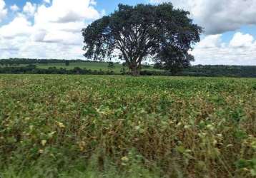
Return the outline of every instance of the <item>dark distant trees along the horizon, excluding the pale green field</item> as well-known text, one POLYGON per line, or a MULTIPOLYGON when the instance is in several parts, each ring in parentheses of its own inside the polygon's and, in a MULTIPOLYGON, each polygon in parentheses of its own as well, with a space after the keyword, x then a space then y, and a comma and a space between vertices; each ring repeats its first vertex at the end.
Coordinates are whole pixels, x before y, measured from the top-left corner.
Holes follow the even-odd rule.
MULTIPOLYGON (((27 59, 27 58, 11 58, 0 60, 0 73, 28 73, 28 74, 91 74, 91 75, 128 75, 129 72, 124 69, 120 70, 119 73, 114 73, 112 70, 91 70, 87 68, 74 68, 68 70, 66 68, 55 68, 50 67, 47 69, 37 68, 35 64, 39 63, 66 63, 67 60, 59 59, 27 59), (27 64, 26 66, 19 66, 20 64, 27 64)), ((70 60, 69 62, 92 62, 82 60, 70 60)), ((144 66, 144 70, 141 71, 141 75, 173 75, 169 71, 164 70, 145 70, 150 66, 144 66)), ((154 68, 161 69, 161 67, 155 65, 154 68)), ((185 68, 177 76, 205 76, 205 77, 244 77, 244 78, 255 78, 256 77, 256 66, 191 66, 185 68)))

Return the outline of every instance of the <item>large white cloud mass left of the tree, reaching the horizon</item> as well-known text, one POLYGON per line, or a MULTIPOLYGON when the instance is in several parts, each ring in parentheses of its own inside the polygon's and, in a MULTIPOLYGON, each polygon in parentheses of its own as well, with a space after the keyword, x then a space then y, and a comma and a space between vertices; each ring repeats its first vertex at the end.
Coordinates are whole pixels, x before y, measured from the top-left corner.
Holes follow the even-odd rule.
POLYGON ((0 26, 0 58, 82 58, 81 29, 102 16, 94 5, 90 0, 27 1, 22 13, 0 26))

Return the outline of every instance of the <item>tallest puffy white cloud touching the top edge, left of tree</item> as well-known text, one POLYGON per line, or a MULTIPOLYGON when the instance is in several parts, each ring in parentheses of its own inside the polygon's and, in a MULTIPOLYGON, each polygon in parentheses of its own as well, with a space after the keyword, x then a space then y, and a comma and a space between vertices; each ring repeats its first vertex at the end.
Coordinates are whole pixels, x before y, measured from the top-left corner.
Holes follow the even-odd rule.
POLYGON ((82 46, 81 29, 86 26, 84 21, 101 16, 89 4, 89 0, 54 0, 49 7, 39 6, 34 16, 34 37, 49 43, 82 46))

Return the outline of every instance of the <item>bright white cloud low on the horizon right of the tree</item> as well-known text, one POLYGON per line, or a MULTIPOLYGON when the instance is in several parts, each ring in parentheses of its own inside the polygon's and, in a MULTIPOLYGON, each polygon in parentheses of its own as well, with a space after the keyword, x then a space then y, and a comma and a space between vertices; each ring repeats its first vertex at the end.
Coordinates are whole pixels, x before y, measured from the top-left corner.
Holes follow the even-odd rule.
POLYGON ((256 65, 256 41, 250 34, 237 32, 230 43, 222 35, 210 35, 197 43, 194 64, 256 65))

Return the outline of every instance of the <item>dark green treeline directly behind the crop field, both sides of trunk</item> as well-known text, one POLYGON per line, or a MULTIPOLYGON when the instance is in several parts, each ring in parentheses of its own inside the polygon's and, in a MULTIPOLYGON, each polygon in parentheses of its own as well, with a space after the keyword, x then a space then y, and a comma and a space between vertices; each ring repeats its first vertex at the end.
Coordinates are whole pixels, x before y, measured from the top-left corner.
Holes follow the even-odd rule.
MULTIPOLYGON (((79 74, 79 75, 129 75, 129 72, 123 68, 120 73, 114 73, 112 70, 91 70, 87 68, 66 68, 50 67, 47 69, 37 68, 35 65, 18 67, 0 67, 0 73, 14 74, 79 74)), ((169 71, 142 70, 141 75, 172 75, 169 71)), ((205 77, 244 77, 255 78, 256 66, 192 66, 176 74, 177 76, 205 76, 205 77)))

